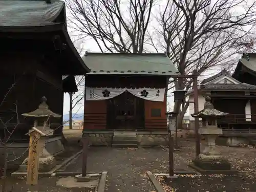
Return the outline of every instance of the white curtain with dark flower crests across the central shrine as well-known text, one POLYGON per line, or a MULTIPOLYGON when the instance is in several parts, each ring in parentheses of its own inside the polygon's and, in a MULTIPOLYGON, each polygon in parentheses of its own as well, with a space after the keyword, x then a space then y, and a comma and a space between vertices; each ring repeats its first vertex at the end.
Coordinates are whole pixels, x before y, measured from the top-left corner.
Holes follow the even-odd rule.
POLYGON ((152 88, 138 88, 138 89, 127 89, 127 88, 89 88, 86 87, 86 100, 96 101, 111 99, 123 92, 128 91, 136 97, 150 100, 150 101, 163 101, 165 88, 152 89, 152 88))

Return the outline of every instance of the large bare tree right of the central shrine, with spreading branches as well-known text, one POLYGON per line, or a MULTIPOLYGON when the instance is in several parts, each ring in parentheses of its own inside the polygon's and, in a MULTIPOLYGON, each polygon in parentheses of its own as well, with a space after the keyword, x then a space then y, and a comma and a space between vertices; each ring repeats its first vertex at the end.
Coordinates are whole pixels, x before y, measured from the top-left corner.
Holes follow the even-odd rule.
MULTIPOLYGON (((150 44, 156 51, 165 50, 181 74, 232 67, 231 56, 238 49, 254 46, 255 8, 254 1, 168 0, 156 16, 158 38, 151 34, 150 44)), ((193 80, 179 78, 170 83, 176 90, 190 90, 193 80)), ((176 102, 174 110, 180 111, 181 126, 188 103, 180 107, 181 102, 176 102)))

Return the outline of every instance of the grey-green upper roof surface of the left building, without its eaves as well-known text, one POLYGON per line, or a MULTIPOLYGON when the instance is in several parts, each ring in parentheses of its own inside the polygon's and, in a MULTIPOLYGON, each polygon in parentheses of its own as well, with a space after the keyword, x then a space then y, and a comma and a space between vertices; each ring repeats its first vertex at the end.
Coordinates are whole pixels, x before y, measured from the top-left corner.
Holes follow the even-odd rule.
POLYGON ((0 0, 0 26, 42 26, 52 25, 65 6, 58 0, 0 0))

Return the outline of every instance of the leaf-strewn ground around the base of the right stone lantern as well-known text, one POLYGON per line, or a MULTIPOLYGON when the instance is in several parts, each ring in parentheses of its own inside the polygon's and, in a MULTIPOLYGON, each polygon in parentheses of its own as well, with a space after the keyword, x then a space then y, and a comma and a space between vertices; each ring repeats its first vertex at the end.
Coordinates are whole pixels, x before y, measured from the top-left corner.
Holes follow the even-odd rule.
MULTIPOLYGON (((204 141, 202 141, 202 144, 204 141)), ((195 158, 195 142, 193 140, 180 139, 179 144, 182 151, 178 155, 187 163, 195 158)), ((203 145, 202 145, 203 146, 203 145)), ((251 146, 227 147, 217 146, 218 150, 226 157, 233 168, 239 170, 237 176, 210 175, 195 176, 186 175, 166 183, 162 177, 157 179, 162 183, 165 192, 167 191, 221 191, 236 192, 256 191, 256 149, 251 146)))

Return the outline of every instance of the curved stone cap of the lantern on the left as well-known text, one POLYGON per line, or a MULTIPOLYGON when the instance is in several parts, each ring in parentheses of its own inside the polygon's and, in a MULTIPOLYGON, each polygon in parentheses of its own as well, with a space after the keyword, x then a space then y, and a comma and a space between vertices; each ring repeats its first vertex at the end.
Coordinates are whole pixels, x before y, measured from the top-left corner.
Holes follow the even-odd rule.
POLYGON ((52 112, 51 110, 49 110, 49 106, 46 103, 47 98, 46 97, 42 97, 41 98, 41 104, 39 104, 38 108, 35 111, 29 112, 29 113, 23 113, 22 115, 25 117, 61 117, 61 115, 52 112))

